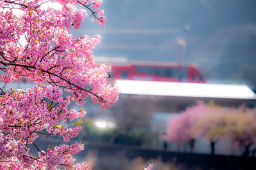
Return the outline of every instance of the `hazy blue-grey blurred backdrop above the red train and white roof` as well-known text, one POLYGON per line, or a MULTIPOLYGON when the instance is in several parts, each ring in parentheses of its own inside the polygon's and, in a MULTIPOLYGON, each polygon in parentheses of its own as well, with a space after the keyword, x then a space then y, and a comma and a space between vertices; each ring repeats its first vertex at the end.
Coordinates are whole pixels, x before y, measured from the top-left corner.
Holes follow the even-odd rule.
POLYGON ((102 36, 97 57, 196 63, 209 82, 255 89, 255 5, 253 0, 106 0, 106 26, 85 22, 79 34, 102 36))

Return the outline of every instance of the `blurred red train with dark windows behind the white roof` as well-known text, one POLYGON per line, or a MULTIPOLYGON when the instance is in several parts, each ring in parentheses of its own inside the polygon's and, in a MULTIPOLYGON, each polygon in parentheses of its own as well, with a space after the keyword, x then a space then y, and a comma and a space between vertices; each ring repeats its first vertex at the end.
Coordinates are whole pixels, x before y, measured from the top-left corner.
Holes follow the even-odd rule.
POLYGON ((195 64, 182 66, 173 62, 134 61, 111 66, 114 79, 207 83, 195 64))

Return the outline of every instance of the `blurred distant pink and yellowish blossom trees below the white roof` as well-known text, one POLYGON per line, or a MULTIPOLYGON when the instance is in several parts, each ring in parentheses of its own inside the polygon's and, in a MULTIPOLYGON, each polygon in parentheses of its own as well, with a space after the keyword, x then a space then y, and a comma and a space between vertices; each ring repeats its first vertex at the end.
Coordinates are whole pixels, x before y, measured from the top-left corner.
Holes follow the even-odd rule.
MULTIPOLYGON (((243 155, 248 156, 250 146, 255 146, 256 143, 255 121, 256 108, 227 108, 213 102, 205 104, 198 101, 179 117, 168 120, 163 139, 179 144, 202 136, 211 145, 211 153, 214 155, 216 142, 221 138, 229 138, 243 146, 243 155)), ((255 152, 256 149, 252 151, 252 155, 255 152)))

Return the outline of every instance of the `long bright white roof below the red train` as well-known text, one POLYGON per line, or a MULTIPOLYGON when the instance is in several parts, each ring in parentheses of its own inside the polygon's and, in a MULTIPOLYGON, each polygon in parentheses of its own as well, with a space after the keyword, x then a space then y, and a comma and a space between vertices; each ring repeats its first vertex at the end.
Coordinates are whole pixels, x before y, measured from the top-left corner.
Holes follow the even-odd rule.
POLYGON ((118 85, 122 94, 256 99, 255 93, 247 85, 174 83, 135 80, 116 80, 115 83, 118 85))

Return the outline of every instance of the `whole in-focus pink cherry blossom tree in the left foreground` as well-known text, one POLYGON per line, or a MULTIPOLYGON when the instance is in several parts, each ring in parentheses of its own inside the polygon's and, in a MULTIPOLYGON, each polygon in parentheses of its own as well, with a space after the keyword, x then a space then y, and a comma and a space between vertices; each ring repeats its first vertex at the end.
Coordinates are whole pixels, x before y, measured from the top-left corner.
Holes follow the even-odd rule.
POLYGON ((68 128, 63 122, 84 117, 86 112, 70 110, 70 101, 83 105, 91 97, 107 109, 118 99, 117 87, 106 84, 111 67, 94 65, 92 50, 100 36, 70 34, 88 15, 104 25, 102 1, 56 0, 52 3, 60 4, 61 10, 41 8, 49 2, 0 1, 1 80, 10 83, 24 77, 38 83, 27 90, 0 89, 0 169, 91 169, 87 162, 73 164, 72 155, 83 150, 81 143, 43 151, 35 139, 60 135, 69 141, 77 136, 81 125, 68 128), (67 97, 62 96, 63 90, 69 92, 67 97), (35 146, 38 156, 29 153, 28 144, 35 146))

